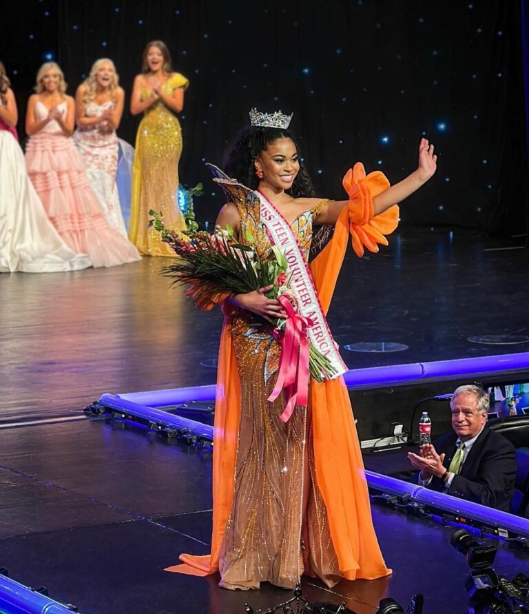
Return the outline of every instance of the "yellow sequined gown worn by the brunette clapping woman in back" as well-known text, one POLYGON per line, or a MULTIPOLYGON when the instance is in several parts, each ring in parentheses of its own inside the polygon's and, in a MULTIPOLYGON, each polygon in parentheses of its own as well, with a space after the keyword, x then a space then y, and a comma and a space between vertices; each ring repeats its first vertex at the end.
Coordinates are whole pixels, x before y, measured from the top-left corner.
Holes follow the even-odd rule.
MULTIPOLYGON (((162 85, 167 94, 177 88, 187 89, 189 81, 178 72, 162 85)), ((141 99, 152 96, 152 91, 141 89, 141 99)), ((185 228, 178 209, 178 161, 182 153, 182 130, 171 110, 158 100, 146 111, 136 135, 136 153, 132 172, 132 201, 129 238, 141 254, 147 256, 174 256, 160 233, 147 227, 149 210, 162 212, 165 227, 185 228)))

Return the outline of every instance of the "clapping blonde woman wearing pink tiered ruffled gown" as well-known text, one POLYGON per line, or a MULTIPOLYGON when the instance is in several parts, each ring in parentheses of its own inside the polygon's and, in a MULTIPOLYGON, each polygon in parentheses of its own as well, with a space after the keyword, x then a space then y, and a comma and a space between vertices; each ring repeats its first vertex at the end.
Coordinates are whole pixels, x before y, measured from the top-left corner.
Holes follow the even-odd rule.
POLYGON ((72 139, 74 99, 65 95, 59 65, 47 62, 41 66, 36 91, 28 102, 25 120, 30 136, 25 158, 50 221, 70 249, 87 254, 94 267, 139 260, 136 247, 107 223, 90 187, 72 139))

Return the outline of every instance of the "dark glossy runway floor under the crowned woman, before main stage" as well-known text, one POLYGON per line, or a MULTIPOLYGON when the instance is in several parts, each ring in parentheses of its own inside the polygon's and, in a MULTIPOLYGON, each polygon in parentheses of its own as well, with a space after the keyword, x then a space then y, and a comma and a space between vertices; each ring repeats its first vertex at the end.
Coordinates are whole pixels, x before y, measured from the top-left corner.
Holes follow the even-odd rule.
MULTIPOLYGON (((289 593, 219 589, 218 576, 163 571, 178 554, 205 554, 211 531, 211 451, 160 440, 131 427, 82 420, 7 429, 0 467, 0 566, 81 614, 237 614, 245 602, 270 607, 289 593)), ((462 614, 468 566, 444 527, 373 505, 375 529, 393 575, 342 582, 332 591, 304 579, 310 600, 374 614, 382 597, 407 606, 425 595, 425 614, 462 614)), ((527 571, 529 553, 501 544, 495 569, 527 571)))

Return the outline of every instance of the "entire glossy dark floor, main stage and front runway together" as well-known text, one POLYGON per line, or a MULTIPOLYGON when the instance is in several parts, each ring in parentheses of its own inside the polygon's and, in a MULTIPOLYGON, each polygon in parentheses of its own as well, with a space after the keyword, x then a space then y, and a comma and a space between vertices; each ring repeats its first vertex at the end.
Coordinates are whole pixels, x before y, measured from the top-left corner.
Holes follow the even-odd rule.
MULTIPOLYGON (((349 367, 527 351, 467 340, 527 334, 526 252, 486 251, 521 245, 408 232, 380 254, 349 258, 329 316, 340 345, 409 346, 344 352, 349 367)), ((77 419, 103 392, 214 382, 214 369, 200 362, 216 354, 220 314, 198 314, 181 291, 167 290, 161 264, 0 276, 0 566, 83 614, 267 608, 287 593, 271 586, 231 593, 218 588, 218 577, 163 571, 181 552, 208 551, 211 451, 77 419)), ((393 575, 333 591, 307 579, 307 598, 374 614, 381 597, 405 605, 422 592, 425 614, 465 612, 468 568, 449 545, 453 529, 377 504, 373 518, 393 575)), ((501 544, 495 569, 512 577, 528 569, 528 556, 501 544)))

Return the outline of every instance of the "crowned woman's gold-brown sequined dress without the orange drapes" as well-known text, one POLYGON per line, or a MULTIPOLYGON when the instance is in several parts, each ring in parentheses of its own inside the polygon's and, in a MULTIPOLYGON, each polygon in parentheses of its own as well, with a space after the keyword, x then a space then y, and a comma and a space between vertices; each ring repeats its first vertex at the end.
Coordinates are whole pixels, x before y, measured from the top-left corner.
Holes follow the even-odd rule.
MULTIPOLYGON (((313 219, 324 202, 292 224, 306 259, 313 219)), ((247 241, 249 231, 261 258, 271 257, 258 201, 254 207, 241 203, 238 208, 241 241, 247 241)), ((267 581, 292 588, 302 573, 316 574, 332 586, 342 576, 315 482, 311 408, 296 407, 284 423, 282 398, 267 400, 280 357, 272 332, 249 311, 239 311, 231 324, 241 406, 234 498, 220 551, 220 586, 258 589, 267 581), (305 544, 310 545, 310 557, 303 560, 305 544)))

